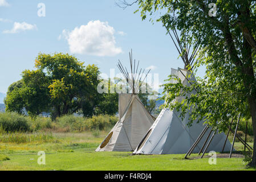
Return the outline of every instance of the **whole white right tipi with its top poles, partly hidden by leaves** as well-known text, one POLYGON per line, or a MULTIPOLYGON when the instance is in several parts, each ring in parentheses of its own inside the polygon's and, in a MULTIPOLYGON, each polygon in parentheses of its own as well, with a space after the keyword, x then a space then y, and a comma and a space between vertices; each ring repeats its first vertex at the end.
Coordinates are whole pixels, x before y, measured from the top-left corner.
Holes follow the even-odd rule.
MULTIPOLYGON (((186 42, 182 44, 175 29, 173 30, 174 36, 169 31, 168 33, 185 64, 184 69, 172 69, 171 74, 180 78, 184 86, 190 86, 190 81, 194 82, 196 78, 187 68, 193 68, 198 45, 192 49, 192 46, 186 42), (190 53, 190 50, 193 50, 192 53, 190 53)), ((176 98, 178 101, 182 101, 182 99, 182 97, 176 98)), ((182 120, 178 111, 172 111, 168 108, 162 109, 156 121, 148 130, 143 140, 141 140, 139 146, 136 147, 133 154, 185 154, 193 146, 202 131, 204 131, 204 135, 202 135, 201 140, 194 147, 193 152, 201 152, 202 148, 206 148, 206 146, 206 152, 230 150, 231 143, 229 141, 226 142, 225 148, 222 148, 226 135, 224 133, 214 133, 214 138, 210 137, 213 134, 212 130, 208 130, 208 127, 203 125, 204 121, 199 123, 194 121, 192 126, 188 127, 189 113, 190 111, 186 113, 185 118, 182 120), (209 137, 211 138, 211 142, 208 145, 209 137)))

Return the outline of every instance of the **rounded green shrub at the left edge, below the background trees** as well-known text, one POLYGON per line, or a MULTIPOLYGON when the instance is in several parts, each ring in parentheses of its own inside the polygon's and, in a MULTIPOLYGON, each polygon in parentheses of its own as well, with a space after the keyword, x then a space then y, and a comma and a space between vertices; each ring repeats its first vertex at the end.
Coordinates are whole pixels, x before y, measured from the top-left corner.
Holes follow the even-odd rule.
POLYGON ((7 132, 30 130, 31 119, 16 113, 0 113, 0 127, 7 132))

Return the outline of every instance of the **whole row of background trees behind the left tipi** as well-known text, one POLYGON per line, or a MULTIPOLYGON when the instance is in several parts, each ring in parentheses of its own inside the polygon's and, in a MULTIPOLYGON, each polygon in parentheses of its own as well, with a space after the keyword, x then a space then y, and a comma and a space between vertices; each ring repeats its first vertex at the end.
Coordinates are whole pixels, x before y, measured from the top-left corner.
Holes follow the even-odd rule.
MULTIPOLYGON (((97 92, 97 85, 103 80, 98 79, 100 71, 96 65, 85 66, 68 54, 39 53, 35 68, 23 71, 22 79, 9 86, 5 98, 7 112, 28 114, 31 118, 50 113, 52 120, 74 113, 84 117, 117 113, 118 94, 97 92)), ((156 101, 148 101, 148 95, 140 94, 140 98, 153 113, 156 101)))

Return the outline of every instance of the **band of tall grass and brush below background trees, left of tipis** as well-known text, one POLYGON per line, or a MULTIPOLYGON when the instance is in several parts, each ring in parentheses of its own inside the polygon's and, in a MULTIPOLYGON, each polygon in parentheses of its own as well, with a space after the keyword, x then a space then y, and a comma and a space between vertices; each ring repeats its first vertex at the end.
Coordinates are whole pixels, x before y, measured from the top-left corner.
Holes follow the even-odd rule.
POLYGON ((118 118, 112 115, 97 115, 92 118, 76 117, 75 115, 65 115, 52 121, 50 118, 36 117, 31 119, 16 113, 0 113, 0 133, 15 132, 38 132, 38 131, 55 131, 55 132, 82 132, 95 130, 109 130, 118 118))

